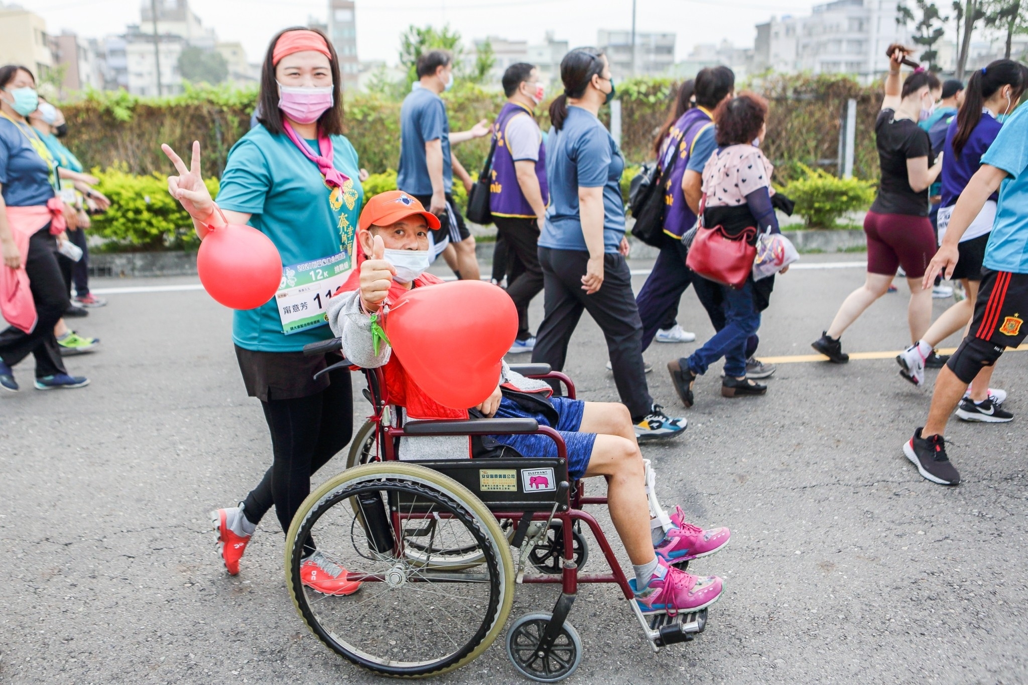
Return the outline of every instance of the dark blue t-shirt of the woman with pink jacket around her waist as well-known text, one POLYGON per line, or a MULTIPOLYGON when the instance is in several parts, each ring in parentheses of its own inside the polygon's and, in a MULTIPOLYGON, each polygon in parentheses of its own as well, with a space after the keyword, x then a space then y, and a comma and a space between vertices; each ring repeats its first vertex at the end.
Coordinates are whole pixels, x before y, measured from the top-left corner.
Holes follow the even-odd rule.
POLYGON ((53 197, 50 165, 36 145, 45 151, 35 128, 0 116, 0 184, 10 206, 37 206, 53 197))

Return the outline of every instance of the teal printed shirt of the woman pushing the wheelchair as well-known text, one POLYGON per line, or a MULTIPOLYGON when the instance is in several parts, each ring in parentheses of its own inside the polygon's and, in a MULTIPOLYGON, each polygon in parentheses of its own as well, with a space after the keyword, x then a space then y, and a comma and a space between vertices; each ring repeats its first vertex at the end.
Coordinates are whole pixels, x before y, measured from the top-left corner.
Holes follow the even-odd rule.
MULTIPOLYGON (((252 215, 250 225, 271 238, 284 267, 345 252, 354 254, 357 218, 364 190, 357 175, 357 151, 343 136, 332 136, 332 164, 350 180, 330 189, 318 166, 285 134, 273 136, 257 125, 232 146, 221 176, 218 206, 252 215)), ((318 151, 318 141, 307 141, 318 151)), ((307 343, 327 340, 327 325, 291 335, 282 332, 274 300, 235 311, 232 340, 245 349, 298 352, 307 343)))

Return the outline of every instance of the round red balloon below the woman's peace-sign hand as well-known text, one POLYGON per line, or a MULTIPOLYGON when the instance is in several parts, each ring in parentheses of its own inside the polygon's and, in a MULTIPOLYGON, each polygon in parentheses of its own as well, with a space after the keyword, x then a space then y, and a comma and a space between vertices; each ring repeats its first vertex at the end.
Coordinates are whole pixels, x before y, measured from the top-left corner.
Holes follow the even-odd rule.
POLYGON ((271 239, 252 226, 212 228, 199 243, 196 272, 204 290, 232 309, 254 309, 282 283, 282 257, 271 239))

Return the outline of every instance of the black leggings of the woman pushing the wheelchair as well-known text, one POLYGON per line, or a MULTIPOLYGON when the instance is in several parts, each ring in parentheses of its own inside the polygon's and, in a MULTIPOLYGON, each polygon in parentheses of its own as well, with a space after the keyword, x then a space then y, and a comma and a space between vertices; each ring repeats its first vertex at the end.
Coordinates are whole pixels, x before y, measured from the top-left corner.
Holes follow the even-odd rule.
POLYGON ((310 494, 310 475, 350 443, 354 432, 350 371, 329 372, 329 379, 331 385, 313 395, 261 402, 274 461, 245 500, 244 513, 251 523, 258 523, 273 504, 287 532, 310 494))

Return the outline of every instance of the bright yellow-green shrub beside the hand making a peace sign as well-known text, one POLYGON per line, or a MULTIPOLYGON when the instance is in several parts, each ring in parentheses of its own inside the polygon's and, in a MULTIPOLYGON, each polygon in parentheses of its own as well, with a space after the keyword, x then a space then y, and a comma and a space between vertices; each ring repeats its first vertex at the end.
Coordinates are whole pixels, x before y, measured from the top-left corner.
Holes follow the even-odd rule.
MULTIPOLYGON (((111 206, 93 218, 94 234, 108 238, 113 246, 154 251, 195 249, 199 239, 189 214, 168 192, 167 177, 154 172, 134 176, 124 167, 105 172, 94 169, 100 179, 97 189, 107 195, 111 206)), ((206 181, 211 196, 218 194, 218 180, 206 181)))

